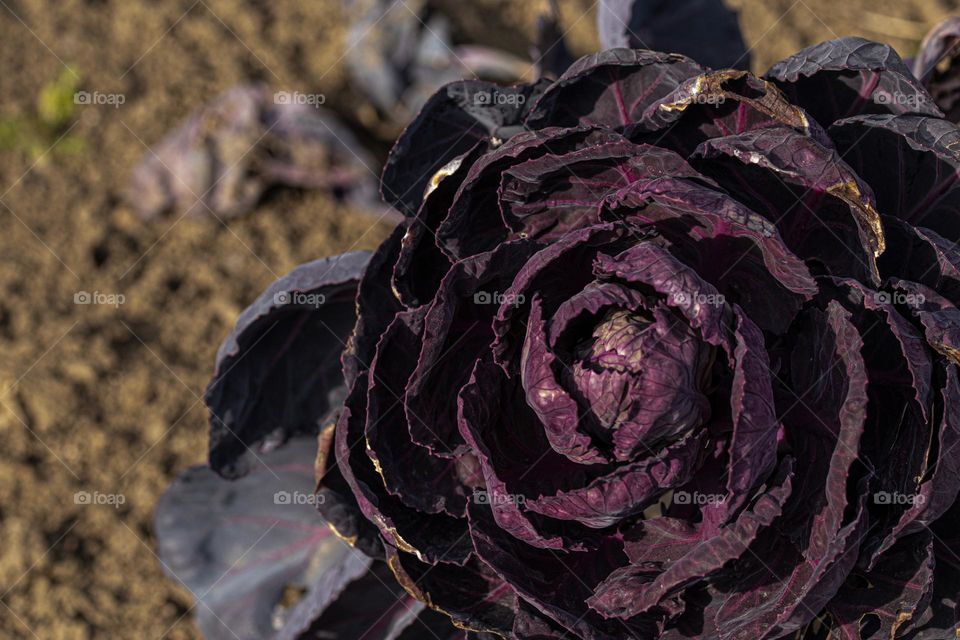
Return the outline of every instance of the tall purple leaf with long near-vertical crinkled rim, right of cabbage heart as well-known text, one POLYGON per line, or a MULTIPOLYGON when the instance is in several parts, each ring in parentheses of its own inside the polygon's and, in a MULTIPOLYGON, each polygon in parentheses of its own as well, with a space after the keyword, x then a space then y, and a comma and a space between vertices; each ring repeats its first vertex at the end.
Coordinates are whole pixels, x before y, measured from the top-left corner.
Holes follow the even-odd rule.
POLYGON ((743 571, 750 577, 717 614, 723 640, 772 640, 807 625, 844 583, 868 530, 869 475, 855 466, 868 405, 863 341, 834 301, 810 320, 791 371, 794 390, 784 400, 787 438, 798 443, 784 525, 794 518, 807 524, 771 530, 748 558, 743 571), (798 396, 806 400, 793 402, 798 396), (773 588, 761 586, 771 580, 773 588))

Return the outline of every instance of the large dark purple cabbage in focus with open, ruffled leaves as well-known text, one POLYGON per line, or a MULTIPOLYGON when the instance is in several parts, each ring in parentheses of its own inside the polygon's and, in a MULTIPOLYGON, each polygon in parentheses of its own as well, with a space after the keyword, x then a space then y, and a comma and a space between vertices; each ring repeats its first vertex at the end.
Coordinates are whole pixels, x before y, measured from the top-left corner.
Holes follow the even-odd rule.
POLYGON ((326 522, 470 637, 954 637, 958 144, 859 38, 447 85, 391 237, 221 349, 211 466, 317 434, 326 522))

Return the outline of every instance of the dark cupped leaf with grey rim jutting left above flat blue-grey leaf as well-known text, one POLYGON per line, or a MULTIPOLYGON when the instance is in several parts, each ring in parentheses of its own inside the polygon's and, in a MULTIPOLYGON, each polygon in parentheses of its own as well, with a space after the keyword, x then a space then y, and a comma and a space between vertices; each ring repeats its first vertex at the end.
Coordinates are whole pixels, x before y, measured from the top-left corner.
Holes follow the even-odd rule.
POLYGON ((242 476, 256 450, 316 433, 339 409, 346 393, 340 354, 369 260, 357 251, 301 265, 240 315, 204 396, 217 473, 242 476))

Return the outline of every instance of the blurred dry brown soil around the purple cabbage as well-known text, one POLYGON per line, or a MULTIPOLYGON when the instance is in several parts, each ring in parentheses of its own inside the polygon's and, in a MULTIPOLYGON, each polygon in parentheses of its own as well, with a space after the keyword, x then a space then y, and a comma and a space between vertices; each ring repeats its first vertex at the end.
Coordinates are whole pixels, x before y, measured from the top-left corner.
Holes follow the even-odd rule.
MULTIPOLYGON (((758 69, 838 35, 887 40, 909 54, 958 8, 732 3, 758 69)), ((575 48, 595 47, 593 16, 581 17, 590 2, 561 4, 575 48)), ((531 33, 536 10, 481 0, 460 19, 465 32, 496 33, 485 41, 524 52, 516 42, 531 33)), ((23 150, 0 152, 0 636, 198 637, 188 594, 153 556, 150 523, 170 480, 204 459, 199 396, 216 348, 272 279, 312 258, 372 248, 387 228, 319 193, 273 193, 227 224, 144 223, 120 194, 145 145, 237 83, 321 90, 352 113, 340 60, 345 19, 335 0, 0 2, 0 119, 35 112, 63 63, 81 88, 126 96, 118 109, 80 109, 74 153, 35 163, 23 150), (125 302, 77 305, 78 291, 125 302), (122 494, 125 504, 76 504, 77 491, 122 494)))

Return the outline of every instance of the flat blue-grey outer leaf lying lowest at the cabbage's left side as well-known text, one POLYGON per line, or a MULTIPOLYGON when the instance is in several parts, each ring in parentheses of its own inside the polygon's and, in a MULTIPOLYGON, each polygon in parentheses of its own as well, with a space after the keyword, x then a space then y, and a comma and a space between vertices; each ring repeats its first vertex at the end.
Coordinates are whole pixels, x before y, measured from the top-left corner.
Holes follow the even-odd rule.
POLYGON ((367 572, 371 560, 300 500, 313 493, 315 451, 310 438, 295 438, 233 482, 195 467, 160 499, 161 562, 196 597, 209 640, 260 640, 287 621, 303 627, 299 605, 280 605, 285 588, 303 589, 300 604, 319 614, 367 572))

